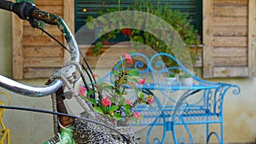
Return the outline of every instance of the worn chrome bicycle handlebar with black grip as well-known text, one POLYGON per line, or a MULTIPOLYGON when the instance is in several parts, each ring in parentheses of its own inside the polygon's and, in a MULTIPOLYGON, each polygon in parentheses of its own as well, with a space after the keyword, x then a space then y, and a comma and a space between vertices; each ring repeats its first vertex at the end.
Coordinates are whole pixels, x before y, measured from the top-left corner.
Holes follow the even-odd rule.
MULTIPOLYGON (((33 27, 38 26, 37 20, 43 20, 45 23, 58 26, 67 41, 67 45, 71 52, 71 60, 79 62, 79 46, 75 41, 72 32, 69 30, 67 24, 61 19, 61 17, 41 11, 37 9, 34 4, 28 2, 13 3, 6 0, 0 0, 0 9, 14 12, 20 17, 20 19, 28 20, 33 27)), ((62 85, 63 83, 61 80, 55 79, 55 81, 48 86, 32 87, 27 86, 26 84, 20 84, 12 79, 5 78, 0 75, 1 87, 21 95, 28 95, 32 97, 51 95, 55 93, 57 89, 60 89, 62 85)))

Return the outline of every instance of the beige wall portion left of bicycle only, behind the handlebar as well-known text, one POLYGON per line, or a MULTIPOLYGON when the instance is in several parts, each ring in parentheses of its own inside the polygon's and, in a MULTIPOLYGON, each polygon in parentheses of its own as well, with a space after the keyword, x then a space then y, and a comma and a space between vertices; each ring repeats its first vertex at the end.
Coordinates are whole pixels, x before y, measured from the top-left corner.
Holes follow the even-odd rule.
MULTIPOLYGON (((0 10, 0 73, 4 76, 12 76, 11 62, 11 14, 0 10)), ((46 79, 36 79, 21 81, 24 84, 42 86, 46 79)), ((4 89, 0 88, 0 91, 4 89)), ((25 96, 15 95, 9 92, 12 98, 12 106, 33 107, 51 110, 51 101, 49 97, 27 98, 25 96)), ((1 100, 6 100, 0 95, 1 100)), ((34 112, 22 112, 8 110, 4 115, 4 124, 11 131, 12 144, 35 144, 44 143, 50 136, 53 136, 52 116, 34 112)))

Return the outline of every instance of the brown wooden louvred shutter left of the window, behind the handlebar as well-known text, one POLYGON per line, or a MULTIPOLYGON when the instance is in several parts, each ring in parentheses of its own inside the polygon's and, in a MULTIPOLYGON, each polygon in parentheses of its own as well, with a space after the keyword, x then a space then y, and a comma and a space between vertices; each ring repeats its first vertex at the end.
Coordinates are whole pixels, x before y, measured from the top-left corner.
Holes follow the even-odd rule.
MULTIPOLYGON (((60 15, 73 29, 73 0, 35 0, 38 9, 60 15), (69 11, 67 11, 69 10, 69 11), (70 16, 72 15, 72 16, 70 16)), ((26 20, 12 15, 13 25, 13 78, 48 78, 62 66, 64 51, 60 45, 41 31, 33 29, 26 20)), ((63 43, 57 26, 45 24, 46 31, 63 43)))

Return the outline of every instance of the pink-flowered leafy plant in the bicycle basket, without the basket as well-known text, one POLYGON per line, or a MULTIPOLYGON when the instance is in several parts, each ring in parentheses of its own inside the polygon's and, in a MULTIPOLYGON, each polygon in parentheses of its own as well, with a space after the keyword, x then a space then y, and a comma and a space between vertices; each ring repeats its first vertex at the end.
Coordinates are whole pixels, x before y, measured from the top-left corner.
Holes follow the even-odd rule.
POLYGON ((132 119, 137 122, 137 119, 143 116, 134 111, 138 104, 150 105, 154 102, 153 95, 144 95, 141 89, 137 89, 137 84, 144 84, 145 79, 139 77, 137 69, 128 70, 125 65, 132 64, 131 55, 125 54, 125 58, 121 57, 119 63, 113 70, 113 83, 108 84, 100 82, 93 84, 95 89, 90 89, 85 93, 85 88, 80 86, 79 96, 82 99, 90 101, 93 110, 102 114, 110 120, 132 119), (128 99, 126 89, 133 89, 136 99, 131 101, 128 99), (90 98, 90 95, 97 94, 96 99, 90 98))

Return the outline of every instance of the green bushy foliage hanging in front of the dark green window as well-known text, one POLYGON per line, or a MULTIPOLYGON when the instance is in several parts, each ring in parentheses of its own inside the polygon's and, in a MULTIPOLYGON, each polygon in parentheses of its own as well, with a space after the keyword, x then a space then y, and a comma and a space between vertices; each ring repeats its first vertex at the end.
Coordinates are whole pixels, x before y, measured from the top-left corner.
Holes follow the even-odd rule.
MULTIPOLYGON (((102 15, 106 13, 116 12, 119 10, 143 11, 149 14, 154 14, 160 19, 165 20, 170 26, 174 28, 174 30, 183 39, 183 42, 186 44, 186 47, 188 50, 190 49, 190 45, 198 45, 201 43, 197 30, 195 30, 194 26, 190 24, 191 20, 189 20, 189 15, 183 14, 178 10, 173 10, 172 5, 170 4, 162 4, 160 3, 160 1, 158 3, 153 3, 152 1, 148 0, 148 1, 134 3, 132 7, 127 9, 120 9, 120 8, 102 9, 101 11, 98 12, 98 14, 102 15)), ((90 20, 93 20, 92 16, 89 16, 86 21, 88 22, 90 20)), ((97 21, 97 23, 99 22, 102 23, 102 26, 105 26, 105 25, 115 26, 114 24, 116 24, 115 23, 116 20, 118 20, 118 18, 113 18, 111 21, 102 18, 100 19, 100 21, 97 21)), ((141 26, 141 27, 143 26, 147 27, 149 25, 160 27, 160 23, 158 20, 150 20, 149 23, 143 23, 143 20, 137 20, 136 15, 131 15, 131 17, 127 17, 124 20, 122 21, 122 23, 136 24, 137 26, 141 26)), ((122 24, 119 24, 119 25, 122 25, 122 24)), ((158 32, 159 30, 157 29, 153 30, 155 31, 153 33, 142 32, 137 29, 129 29, 129 30, 131 31, 131 34, 126 36, 129 37, 131 41, 144 43, 157 52, 164 52, 172 55, 172 50, 169 48, 169 45, 166 45, 166 43, 163 42, 162 39, 160 39, 159 37, 155 37, 155 35, 153 34, 155 32, 158 32)), ((102 41, 108 41, 112 38, 115 38, 118 34, 122 33, 122 31, 123 30, 114 30, 100 37, 101 41, 96 43, 96 49, 94 50, 94 54, 98 55, 101 53, 102 44, 100 43, 102 43, 102 41)), ((172 46, 174 47, 172 49, 179 50, 178 43, 172 43, 172 46), (177 48, 175 48, 175 44, 177 45, 177 48)), ((190 53, 190 56, 191 56, 192 62, 194 62, 195 54, 190 53)), ((167 66, 173 65, 172 61, 167 60, 165 62, 167 66)))

